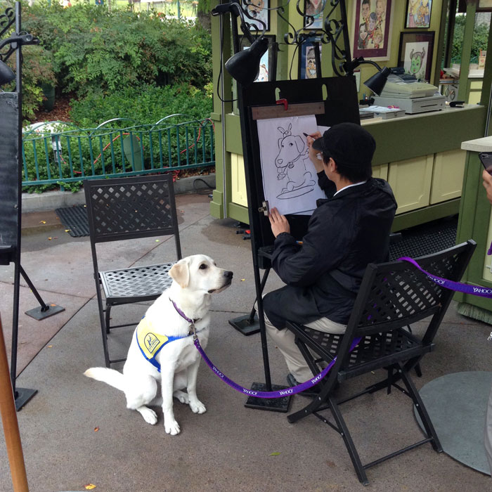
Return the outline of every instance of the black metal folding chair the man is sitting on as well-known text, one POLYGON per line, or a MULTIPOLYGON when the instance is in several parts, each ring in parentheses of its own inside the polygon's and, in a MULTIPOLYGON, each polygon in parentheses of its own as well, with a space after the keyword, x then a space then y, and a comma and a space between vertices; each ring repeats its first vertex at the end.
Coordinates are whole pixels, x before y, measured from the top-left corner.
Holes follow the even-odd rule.
MULTIPOLYGON (((465 272, 475 247, 476 243, 469 240, 448 250, 420 257, 417 261, 429 273, 458 281, 465 272)), ((313 374, 320 372, 317 363, 331 362, 337 356, 332 370, 320 383, 320 395, 302 410, 289 415, 288 420, 297 422, 312 413, 335 429, 344 439, 357 477, 364 485, 368 484, 365 470, 384 460, 425 443, 432 444, 438 453, 442 451, 427 410, 410 379, 409 372, 427 352, 434 348, 434 337, 452 297, 453 291, 432 282, 407 261, 370 264, 365 271, 345 335, 331 335, 297 323, 287 323, 287 328, 294 332, 297 346, 313 374), (432 317, 422 337, 413 335, 406 328, 407 325, 429 316, 432 317), (361 337, 361 341, 353 351, 350 351, 351 344, 358 337, 361 337), (315 360, 309 349, 321 358, 315 360), (378 369, 387 372, 383 380, 353 396, 337 401, 334 396, 337 382, 343 384, 349 378, 378 369), (399 382, 403 382, 403 385, 398 384, 399 382), (389 394, 391 387, 410 396, 427 436, 415 444, 363 465, 339 406, 379 389, 387 389, 389 394), (331 410, 335 423, 330 422, 328 417, 320 413, 328 409, 331 410)))

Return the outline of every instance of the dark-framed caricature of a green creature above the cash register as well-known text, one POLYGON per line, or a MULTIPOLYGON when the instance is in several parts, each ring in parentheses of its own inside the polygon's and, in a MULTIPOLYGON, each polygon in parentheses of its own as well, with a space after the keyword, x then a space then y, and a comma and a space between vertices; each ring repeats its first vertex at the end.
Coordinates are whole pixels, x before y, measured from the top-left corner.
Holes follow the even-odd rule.
POLYGON ((405 72, 415 75, 417 79, 429 81, 432 69, 432 53, 434 51, 434 31, 402 32, 398 66, 405 72))

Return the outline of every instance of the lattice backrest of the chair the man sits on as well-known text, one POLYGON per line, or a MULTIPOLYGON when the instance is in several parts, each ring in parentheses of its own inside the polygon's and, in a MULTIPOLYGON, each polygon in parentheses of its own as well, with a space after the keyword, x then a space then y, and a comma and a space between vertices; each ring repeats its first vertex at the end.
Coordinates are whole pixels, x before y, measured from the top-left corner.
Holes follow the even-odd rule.
MULTIPOLYGON (((468 240, 416 260, 429 273, 458 282, 476 246, 476 242, 468 240)), ((431 344, 453 294, 453 290, 434 283, 408 261, 369 264, 340 347, 339 363, 347 362, 353 339, 399 330, 429 316, 432 318, 422 344, 431 344)))

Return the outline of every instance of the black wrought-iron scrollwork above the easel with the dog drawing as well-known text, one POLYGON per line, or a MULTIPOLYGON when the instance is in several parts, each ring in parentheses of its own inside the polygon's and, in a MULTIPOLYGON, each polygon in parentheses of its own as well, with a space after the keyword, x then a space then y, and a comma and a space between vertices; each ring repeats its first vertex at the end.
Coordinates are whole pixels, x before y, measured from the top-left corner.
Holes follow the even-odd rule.
MULTIPOLYGON (((309 32, 306 32, 306 29, 309 29, 309 26, 313 24, 315 19, 313 15, 308 15, 306 13, 306 1, 297 0, 296 10, 303 19, 302 27, 298 30, 296 30, 294 25, 292 25, 292 23, 285 17, 285 10, 288 4, 290 4, 290 0, 287 0, 285 4, 265 9, 268 11, 277 11, 277 15, 289 26, 289 31, 284 34, 285 44, 297 44, 300 46, 308 39, 313 38, 319 39, 321 44, 331 44, 333 71, 338 76, 347 75, 347 70, 344 70, 344 65, 351 59, 351 52, 345 0, 327 0, 330 10, 325 16, 323 29, 311 29, 309 32), (337 10, 337 7, 339 7, 339 19, 335 18, 335 11, 337 10)), ((242 11, 245 13, 245 17, 256 20, 249 15, 247 7, 250 5, 254 5, 252 1, 242 0, 242 11)), ((261 22, 261 20, 257 20, 257 22, 261 22)), ((264 23, 261 22, 261 24, 264 23)), ((258 28, 255 25, 250 25, 245 22, 245 26, 247 26, 250 30, 258 31, 258 28)))

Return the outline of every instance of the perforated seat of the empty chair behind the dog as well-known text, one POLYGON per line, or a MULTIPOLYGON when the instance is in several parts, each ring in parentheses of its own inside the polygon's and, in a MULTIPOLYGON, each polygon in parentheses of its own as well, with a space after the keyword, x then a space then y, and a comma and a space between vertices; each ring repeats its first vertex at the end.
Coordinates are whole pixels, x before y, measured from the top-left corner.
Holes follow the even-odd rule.
POLYGON ((176 261, 100 271, 106 302, 119 304, 157 299, 171 285, 168 272, 176 261))

